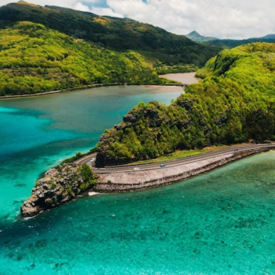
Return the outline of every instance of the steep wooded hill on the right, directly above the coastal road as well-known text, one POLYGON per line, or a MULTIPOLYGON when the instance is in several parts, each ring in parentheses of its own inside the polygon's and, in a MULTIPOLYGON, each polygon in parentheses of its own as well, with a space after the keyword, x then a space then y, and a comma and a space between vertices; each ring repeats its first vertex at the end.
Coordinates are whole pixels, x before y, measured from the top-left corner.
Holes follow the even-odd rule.
POLYGON ((275 139, 275 44, 224 50, 173 104, 140 103, 98 144, 97 166, 151 159, 177 149, 275 139))

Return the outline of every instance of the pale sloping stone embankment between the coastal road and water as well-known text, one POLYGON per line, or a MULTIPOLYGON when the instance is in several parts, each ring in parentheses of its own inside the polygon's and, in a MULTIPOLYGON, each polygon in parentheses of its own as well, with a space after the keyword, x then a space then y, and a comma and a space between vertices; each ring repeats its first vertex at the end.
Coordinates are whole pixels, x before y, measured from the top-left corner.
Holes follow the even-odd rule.
POLYGON ((100 179, 98 179, 98 184, 94 186, 94 190, 96 192, 129 192, 164 186, 172 184, 175 181, 182 181, 189 177, 208 172, 214 168, 241 159, 242 157, 265 151, 269 151, 269 149, 260 148, 253 151, 230 153, 228 155, 203 159, 189 164, 159 168, 157 170, 102 174, 100 175, 100 179))

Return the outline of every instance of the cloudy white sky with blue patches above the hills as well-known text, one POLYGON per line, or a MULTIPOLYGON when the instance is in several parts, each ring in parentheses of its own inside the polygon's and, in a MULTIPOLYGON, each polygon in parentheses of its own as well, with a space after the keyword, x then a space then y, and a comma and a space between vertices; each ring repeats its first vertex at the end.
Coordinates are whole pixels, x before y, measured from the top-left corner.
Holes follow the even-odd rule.
MULTIPOLYGON (((128 17, 174 34, 193 30, 219 39, 275 34, 274 0, 27 0, 98 15, 128 17)), ((0 6, 12 2, 0 0, 0 6)))

